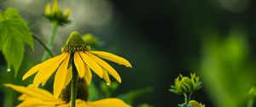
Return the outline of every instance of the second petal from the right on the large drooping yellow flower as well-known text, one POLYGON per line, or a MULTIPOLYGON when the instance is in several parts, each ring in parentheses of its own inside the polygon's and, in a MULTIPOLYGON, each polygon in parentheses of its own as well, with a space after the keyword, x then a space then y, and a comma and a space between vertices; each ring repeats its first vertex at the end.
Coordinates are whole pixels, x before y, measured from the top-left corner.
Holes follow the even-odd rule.
MULTIPOLYGON (((121 77, 119 76, 119 74, 117 73, 116 70, 113 69, 113 67, 111 65, 108 65, 107 62, 105 62, 104 60, 98 58, 96 55, 89 53, 89 52, 85 52, 87 53, 90 58, 95 59, 95 61, 99 64, 102 65, 102 68, 106 69, 108 71, 108 73, 113 76, 118 82, 121 82, 121 77)), ((105 75, 105 74, 104 74, 105 75)), ((109 82, 110 83, 110 82, 109 82)))

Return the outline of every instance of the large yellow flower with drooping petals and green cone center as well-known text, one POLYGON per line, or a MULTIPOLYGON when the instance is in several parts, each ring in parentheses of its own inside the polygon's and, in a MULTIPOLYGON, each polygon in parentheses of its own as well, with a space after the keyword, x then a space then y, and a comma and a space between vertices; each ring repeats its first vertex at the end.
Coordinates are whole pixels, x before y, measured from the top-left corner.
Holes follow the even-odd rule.
POLYGON ((103 59, 131 67, 129 61, 113 53, 90 50, 77 31, 71 34, 66 44, 61 49, 61 52, 60 55, 32 67, 32 69, 28 70, 22 77, 22 80, 37 73, 34 77, 33 84, 38 86, 42 83, 42 86, 44 86, 45 82, 47 82, 49 77, 56 71, 54 96, 58 98, 61 89, 65 88, 68 82, 71 81, 72 68, 78 70, 79 77, 84 77, 88 84, 90 84, 92 77, 90 70, 93 70, 97 76, 100 76, 110 84, 108 74, 113 76, 118 82, 121 82, 121 78, 117 71, 103 59), (72 66, 70 62, 73 62, 75 66, 72 66))

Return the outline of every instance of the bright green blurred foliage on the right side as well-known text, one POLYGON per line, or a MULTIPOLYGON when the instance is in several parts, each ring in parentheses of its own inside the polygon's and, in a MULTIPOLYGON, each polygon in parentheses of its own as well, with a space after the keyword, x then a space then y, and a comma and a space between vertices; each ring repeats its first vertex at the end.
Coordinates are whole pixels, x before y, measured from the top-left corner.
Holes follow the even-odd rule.
POLYGON ((218 107, 241 107, 253 85, 253 64, 248 59, 246 34, 233 29, 220 38, 209 31, 203 40, 201 74, 207 92, 218 107))

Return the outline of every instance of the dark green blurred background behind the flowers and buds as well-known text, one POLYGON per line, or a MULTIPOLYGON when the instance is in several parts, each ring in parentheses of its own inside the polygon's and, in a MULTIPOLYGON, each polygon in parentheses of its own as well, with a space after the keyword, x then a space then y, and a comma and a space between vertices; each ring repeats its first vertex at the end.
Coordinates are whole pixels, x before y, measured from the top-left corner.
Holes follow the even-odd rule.
MULTIPOLYGON (((0 8, 17 8, 32 32, 48 40, 51 25, 44 19, 48 1, 0 0, 0 8)), ((255 84, 256 3, 253 0, 59 0, 72 10, 70 25, 59 27, 55 54, 72 31, 90 32, 103 43, 100 50, 128 59, 132 69, 114 65, 122 77, 116 93, 152 87, 135 102, 174 107, 183 96, 168 92, 179 73, 196 72, 203 88, 195 99, 208 107, 241 107, 255 84), (253 82, 254 81, 254 82, 253 82)), ((1 33, 1 32, 0 32, 1 33)), ((44 49, 26 49, 38 63, 44 49)), ((34 64, 24 63, 13 80, 0 55, 1 83, 19 82, 34 64), (27 67, 29 66, 29 67, 27 67)), ((12 77, 12 76, 11 76, 12 77)), ((112 78, 113 80, 113 78, 112 78)), ((99 82, 94 78, 94 82, 99 82)), ((49 83, 48 83, 49 84, 49 83)), ((2 88, 3 91, 4 88, 2 88)), ((3 104, 4 93, 1 93, 3 104)))

